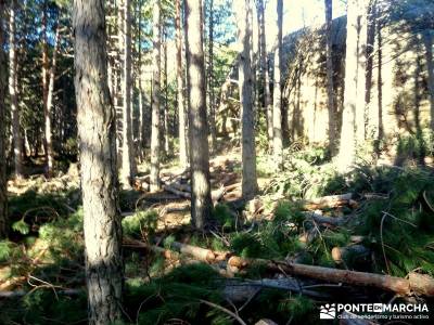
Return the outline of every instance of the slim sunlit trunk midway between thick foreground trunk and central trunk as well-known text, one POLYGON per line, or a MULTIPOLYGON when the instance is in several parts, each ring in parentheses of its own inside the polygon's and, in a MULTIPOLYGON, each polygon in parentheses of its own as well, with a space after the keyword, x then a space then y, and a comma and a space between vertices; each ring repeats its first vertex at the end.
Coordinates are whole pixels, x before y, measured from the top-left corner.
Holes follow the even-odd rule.
POLYGON ((161 82, 161 3, 153 6, 153 78, 152 78, 152 130, 151 130, 151 192, 159 188, 159 82, 161 82))

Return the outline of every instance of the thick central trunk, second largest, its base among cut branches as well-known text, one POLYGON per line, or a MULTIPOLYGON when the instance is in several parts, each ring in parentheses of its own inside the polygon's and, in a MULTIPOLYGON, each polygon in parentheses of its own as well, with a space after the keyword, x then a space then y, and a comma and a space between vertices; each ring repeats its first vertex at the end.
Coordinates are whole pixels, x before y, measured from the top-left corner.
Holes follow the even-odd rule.
POLYGON ((209 148, 206 120, 205 60, 202 1, 186 0, 187 88, 189 91, 189 147, 191 218, 197 229, 208 226, 213 202, 209 185, 209 148))

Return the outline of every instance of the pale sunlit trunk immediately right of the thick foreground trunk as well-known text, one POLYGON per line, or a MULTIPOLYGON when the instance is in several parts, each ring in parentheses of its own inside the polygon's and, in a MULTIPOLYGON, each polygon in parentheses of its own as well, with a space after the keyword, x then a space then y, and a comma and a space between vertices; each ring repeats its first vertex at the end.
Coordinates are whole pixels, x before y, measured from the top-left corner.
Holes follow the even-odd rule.
POLYGON ((136 155, 132 144, 131 120, 131 3, 124 0, 124 80, 123 80, 123 150, 120 182, 125 187, 131 186, 136 174, 136 155))

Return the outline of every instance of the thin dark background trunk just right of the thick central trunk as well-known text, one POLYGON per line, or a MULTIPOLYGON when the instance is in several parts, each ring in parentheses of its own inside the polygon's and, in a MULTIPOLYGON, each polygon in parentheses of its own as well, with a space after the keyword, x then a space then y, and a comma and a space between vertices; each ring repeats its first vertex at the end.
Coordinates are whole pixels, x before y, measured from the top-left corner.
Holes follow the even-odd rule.
POLYGON ((216 106, 214 93, 214 0, 209 0, 209 17, 208 17, 208 96, 209 96, 209 131, 210 131, 210 150, 216 150, 216 106))

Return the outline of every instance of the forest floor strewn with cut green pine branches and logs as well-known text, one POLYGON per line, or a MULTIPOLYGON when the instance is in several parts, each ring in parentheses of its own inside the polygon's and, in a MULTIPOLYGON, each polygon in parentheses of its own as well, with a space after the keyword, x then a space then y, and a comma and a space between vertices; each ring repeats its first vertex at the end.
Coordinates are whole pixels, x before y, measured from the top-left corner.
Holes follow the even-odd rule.
MULTIPOLYGON (((227 151, 210 161, 217 223, 207 233, 190 226, 189 174, 171 161, 162 169, 164 191, 146 191, 146 165, 135 187, 122 191, 128 324, 318 324, 320 304, 340 301, 423 302, 433 310, 430 167, 366 164, 341 176, 323 150, 293 148, 279 173, 258 156, 260 192, 245 202, 239 156, 227 151), (422 276, 427 285, 403 294, 290 274, 292 263, 327 268, 319 273, 331 276, 422 276)), ((77 166, 8 188, 13 233, 0 242, 0 323, 85 324, 77 166)))

